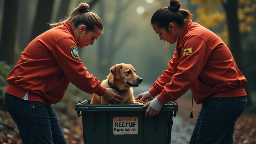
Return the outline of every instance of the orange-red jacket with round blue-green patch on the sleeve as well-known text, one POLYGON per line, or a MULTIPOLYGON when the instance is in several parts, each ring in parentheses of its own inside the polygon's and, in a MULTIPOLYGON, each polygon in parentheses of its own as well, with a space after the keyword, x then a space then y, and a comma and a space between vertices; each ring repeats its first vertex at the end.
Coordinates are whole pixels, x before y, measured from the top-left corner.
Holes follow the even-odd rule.
POLYGON ((63 98, 70 82, 90 94, 102 96, 106 90, 81 62, 68 21, 36 37, 21 53, 7 82, 6 93, 23 98, 28 91, 29 101, 49 107, 63 98))

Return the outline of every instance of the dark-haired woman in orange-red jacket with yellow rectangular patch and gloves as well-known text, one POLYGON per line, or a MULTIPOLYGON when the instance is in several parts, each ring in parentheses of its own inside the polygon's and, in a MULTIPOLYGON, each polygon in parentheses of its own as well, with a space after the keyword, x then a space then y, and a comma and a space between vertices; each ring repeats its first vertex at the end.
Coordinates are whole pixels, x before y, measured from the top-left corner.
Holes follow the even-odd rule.
MULTIPOLYGON (((155 116, 166 102, 175 101, 189 88, 197 104, 202 103, 190 144, 233 142, 235 121, 246 106, 246 79, 239 71, 227 45, 213 32, 193 22, 178 0, 157 10, 151 19, 160 40, 176 43, 168 69, 147 92, 155 98, 147 103, 145 116, 155 116)), ((191 117, 192 110, 191 110, 191 117)))

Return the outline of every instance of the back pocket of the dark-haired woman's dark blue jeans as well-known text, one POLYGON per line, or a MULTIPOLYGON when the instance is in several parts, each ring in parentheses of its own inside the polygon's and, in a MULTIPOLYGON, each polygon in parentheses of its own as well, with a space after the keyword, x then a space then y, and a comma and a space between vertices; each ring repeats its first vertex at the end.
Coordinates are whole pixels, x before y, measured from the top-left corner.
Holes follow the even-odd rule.
POLYGON ((225 116, 236 121, 241 116, 246 106, 246 97, 229 98, 228 108, 225 116))

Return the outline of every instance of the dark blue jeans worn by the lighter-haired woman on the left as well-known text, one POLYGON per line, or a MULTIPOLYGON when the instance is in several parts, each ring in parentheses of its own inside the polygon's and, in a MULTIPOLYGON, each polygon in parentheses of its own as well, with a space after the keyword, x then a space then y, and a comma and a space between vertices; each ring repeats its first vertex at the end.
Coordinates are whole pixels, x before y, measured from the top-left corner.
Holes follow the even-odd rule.
POLYGON ((17 124, 23 144, 66 144, 51 105, 27 101, 5 93, 5 106, 17 124))

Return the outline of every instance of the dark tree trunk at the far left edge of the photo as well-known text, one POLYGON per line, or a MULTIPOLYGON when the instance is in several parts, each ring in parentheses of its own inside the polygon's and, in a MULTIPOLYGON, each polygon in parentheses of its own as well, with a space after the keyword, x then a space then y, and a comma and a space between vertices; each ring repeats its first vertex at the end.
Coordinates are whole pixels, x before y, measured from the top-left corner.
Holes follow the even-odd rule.
POLYGON ((19 0, 4 1, 0 60, 7 61, 7 64, 9 65, 13 64, 14 60, 14 43, 18 22, 18 5, 19 0))

